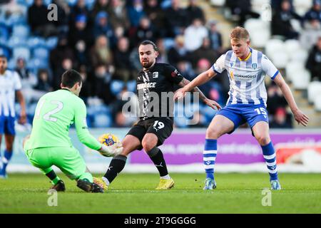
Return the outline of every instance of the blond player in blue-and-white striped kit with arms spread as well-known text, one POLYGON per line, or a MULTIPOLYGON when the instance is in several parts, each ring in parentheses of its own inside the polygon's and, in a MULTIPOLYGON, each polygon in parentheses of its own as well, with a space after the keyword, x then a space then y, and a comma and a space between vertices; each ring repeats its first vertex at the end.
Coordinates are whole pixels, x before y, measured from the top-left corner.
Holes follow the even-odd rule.
POLYGON ((289 86, 273 63, 260 51, 250 48, 250 35, 245 28, 239 26, 234 28, 230 33, 230 43, 231 51, 220 56, 212 68, 200 73, 191 83, 180 88, 175 94, 175 98, 182 98, 185 92, 206 83, 217 73, 228 71, 230 98, 228 98, 225 108, 219 110, 215 115, 206 131, 203 151, 203 163, 206 172, 204 190, 212 190, 216 187, 214 166, 218 150, 218 138, 225 133, 233 133, 238 126, 245 122, 250 125, 253 135, 262 147, 267 170, 270 174, 271 189, 280 190, 275 150, 269 135, 265 75, 280 86, 297 123, 306 126, 309 118, 297 108, 289 86))

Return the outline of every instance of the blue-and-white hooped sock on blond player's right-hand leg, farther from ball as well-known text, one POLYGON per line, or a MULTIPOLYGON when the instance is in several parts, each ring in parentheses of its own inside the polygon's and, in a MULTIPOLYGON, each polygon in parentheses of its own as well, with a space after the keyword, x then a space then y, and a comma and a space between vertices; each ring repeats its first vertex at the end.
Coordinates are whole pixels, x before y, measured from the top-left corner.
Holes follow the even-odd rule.
POLYGON ((276 156, 275 156, 275 150, 272 145, 272 142, 270 142, 267 145, 263 145, 261 147, 263 150, 263 157, 267 165, 267 170, 270 174, 270 180, 277 180, 276 156))

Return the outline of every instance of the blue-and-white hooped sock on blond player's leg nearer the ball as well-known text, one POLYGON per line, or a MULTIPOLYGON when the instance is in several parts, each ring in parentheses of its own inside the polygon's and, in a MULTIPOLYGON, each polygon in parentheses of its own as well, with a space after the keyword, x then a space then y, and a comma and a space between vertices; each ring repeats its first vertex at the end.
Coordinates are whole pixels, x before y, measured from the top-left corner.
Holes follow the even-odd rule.
POLYGON ((217 140, 205 140, 203 151, 203 164, 205 168, 206 178, 214 180, 214 165, 216 153, 218 151, 217 140))

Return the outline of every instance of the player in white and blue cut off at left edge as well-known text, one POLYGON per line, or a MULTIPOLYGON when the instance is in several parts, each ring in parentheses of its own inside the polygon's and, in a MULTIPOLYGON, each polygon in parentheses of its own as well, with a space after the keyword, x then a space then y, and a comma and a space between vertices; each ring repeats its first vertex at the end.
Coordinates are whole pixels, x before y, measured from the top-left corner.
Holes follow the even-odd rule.
MULTIPOLYGON (((17 96, 21 105, 19 123, 26 123, 26 107, 24 96, 21 93, 21 81, 18 73, 7 70, 6 56, 0 56, 0 146, 2 135, 6 141, 4 156, 0 160, 0 178, 6 178, 6 166, 12 156, 12 147, 14 145, 14 120, 16 112, 14 110, 15 96, 17 96)), ((0 151, 1 157, 1 151, 0 151)))

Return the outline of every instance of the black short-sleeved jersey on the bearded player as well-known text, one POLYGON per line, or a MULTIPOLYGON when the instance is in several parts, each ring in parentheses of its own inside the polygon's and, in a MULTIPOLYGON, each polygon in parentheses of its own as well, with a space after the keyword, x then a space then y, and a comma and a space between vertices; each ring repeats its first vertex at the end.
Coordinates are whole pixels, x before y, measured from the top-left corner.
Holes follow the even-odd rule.
POLYGON ((183 76, 166 63, 155 63, 148 71, 139 72, 136 79, 139 117, 173 118, 173 93, 182 80, 183 76))

